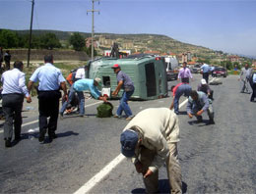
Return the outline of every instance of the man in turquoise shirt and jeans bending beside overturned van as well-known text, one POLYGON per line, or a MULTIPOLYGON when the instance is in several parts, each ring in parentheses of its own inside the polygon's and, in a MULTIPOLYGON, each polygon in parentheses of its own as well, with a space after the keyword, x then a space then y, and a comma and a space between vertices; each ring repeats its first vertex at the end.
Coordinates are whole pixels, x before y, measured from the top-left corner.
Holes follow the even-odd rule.
POLYGON ((91 94, 98 100, 107 102, 105 96, 100 96, 100 92, 97 90, 96 86, 100 83, 101 79, 96 77, 95 79, 82 78, 77 80, 71 87, 68 97, 68 101, 64 102, 61 110, 60 116, 63 117, 64 111, 66 110, 68 104, 72 101, 75 96, 75 93, 78 94, 79 99, 79 116, 84 117, 85 115, 85 96, 83 91, 90 90, 91 94))

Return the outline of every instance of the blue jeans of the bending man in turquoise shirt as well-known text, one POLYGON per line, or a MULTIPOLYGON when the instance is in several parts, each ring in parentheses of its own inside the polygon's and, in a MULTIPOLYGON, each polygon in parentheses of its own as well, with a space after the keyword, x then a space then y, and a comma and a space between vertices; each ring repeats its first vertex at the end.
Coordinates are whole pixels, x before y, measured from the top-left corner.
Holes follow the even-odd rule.
POLYGON ((67 109, 68 104, 72 101, 75 96, 75 93, 78 94, 79 99, 79 115, 85 115, 85 96, 83 91, 76 91, 73 88, 73 85, 69 89, 69 98, 68 101, 65 101, 60 109, 60 114, 63 114, 64 111, 67 109))

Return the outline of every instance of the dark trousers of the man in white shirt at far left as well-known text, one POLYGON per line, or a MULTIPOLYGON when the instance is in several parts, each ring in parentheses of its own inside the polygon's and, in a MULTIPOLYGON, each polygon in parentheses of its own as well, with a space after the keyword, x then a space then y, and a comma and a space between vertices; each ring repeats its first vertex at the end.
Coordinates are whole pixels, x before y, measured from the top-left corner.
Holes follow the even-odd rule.
POLYGON ((23 94, 3 94, 3 112, 5 116, 4 138, 12 139, 13 125, 15 129, 15 138, 21 136, 22 128, 22 110, 23 110, 23 94))

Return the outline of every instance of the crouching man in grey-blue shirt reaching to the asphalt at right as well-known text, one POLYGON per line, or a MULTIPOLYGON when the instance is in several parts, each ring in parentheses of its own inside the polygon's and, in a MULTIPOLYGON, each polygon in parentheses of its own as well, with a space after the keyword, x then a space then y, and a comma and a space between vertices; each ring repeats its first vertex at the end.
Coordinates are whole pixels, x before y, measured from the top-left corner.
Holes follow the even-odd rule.
POLYGON ((208 124, 214 124, 214 109, 212 106, 212 100, 202 91, 192 90, 188 98, 187 114, 190 119, 195 116, 198 122, 202 122, 202 114, 207 111, 209 122, 208 124))

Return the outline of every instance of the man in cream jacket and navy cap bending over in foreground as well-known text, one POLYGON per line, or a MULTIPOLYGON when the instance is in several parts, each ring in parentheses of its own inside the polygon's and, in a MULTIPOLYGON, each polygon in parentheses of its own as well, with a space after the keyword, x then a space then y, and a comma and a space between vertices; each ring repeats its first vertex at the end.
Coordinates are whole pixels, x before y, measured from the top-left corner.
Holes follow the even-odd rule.
POLYGON ((125 126, 120 137, 121 152, 132 158, 136 170, 143 174, 147 193, 159 191, 159 169, 164 162, 171 193, 182 193, 178 141, 178 118, 167 108, 146 109, 125 126))

